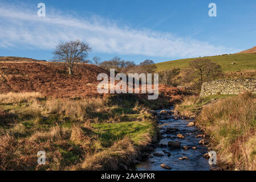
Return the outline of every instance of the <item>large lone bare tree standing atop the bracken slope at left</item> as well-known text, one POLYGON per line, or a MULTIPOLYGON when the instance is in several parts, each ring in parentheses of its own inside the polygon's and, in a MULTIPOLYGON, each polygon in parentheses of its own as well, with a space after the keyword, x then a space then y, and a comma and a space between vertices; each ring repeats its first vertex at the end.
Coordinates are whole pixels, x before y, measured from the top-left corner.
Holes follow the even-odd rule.
POLYGON ((71 40, 66 43, 59 43, 54 51, 54 59, 56 61, 65 62, 68 66, 69 74, 72 75, 72 69, 75 63, 85 61, 88 52, 91 52, 91 47, 81 40, 71 40))

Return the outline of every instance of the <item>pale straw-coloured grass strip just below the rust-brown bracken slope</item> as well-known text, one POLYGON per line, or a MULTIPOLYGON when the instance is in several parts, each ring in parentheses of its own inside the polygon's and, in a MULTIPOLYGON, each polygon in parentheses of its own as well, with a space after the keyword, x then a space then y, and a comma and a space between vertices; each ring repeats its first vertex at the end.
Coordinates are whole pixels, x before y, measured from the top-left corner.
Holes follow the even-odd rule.
MULTIPOLYGON (((11 103, 16 105, 24 102, 26 106, 17 110, 16 113, 23 114, 25 116, 29 115, 34 119, 34 123, 40 123, 42 122, 43 117, 48 117, 50 115, 58 116, 59 121, 66 118, 71 121, 84 122, 88 118, 91 118, 95 113, 107 113, 110 109, 104 105, 104 100, 100 98, 83 100, 51 99, 42 101, 38 100, 38 96, 40 96, 38 93, 2 94, 2 101, 0 101, 0 103, 11 103), (12 97, 13 95, 14 97, 12 97)), ((4 111, 0 110, 0 118, 3 114, 4 111)), ((7 118, 6 114, 5 118, 7 118)), ((95 118, 95 121, 97 121, 97 118, 95 118)))

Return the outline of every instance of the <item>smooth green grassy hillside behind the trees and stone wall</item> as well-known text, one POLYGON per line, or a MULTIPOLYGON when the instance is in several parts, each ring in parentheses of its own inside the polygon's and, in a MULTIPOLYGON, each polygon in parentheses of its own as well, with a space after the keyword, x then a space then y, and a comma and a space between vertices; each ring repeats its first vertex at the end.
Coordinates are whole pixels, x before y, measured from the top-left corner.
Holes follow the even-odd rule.
MULTIPOLYGON (((243 69, 256 69, 256 54, 255 53, 243 53, 223 56, 209 56, 204 57, 220 64, 224 72, 241 71, 243 69), (231 64, 235 63, 235 64, 231 64)), ((166 61, 156 64, 157 71, 161 72, 165 69, 171 68, 186 68, 189 62, 196 58, 181 59, 174 61, 166 61)))

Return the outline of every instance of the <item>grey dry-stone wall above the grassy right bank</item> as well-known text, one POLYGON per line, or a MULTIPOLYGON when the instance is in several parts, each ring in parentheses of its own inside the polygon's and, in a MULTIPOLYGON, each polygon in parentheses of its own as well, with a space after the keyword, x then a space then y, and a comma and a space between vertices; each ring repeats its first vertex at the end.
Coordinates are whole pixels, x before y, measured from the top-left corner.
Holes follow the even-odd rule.
POLYGON ((214 80, 202 84, 200 97, 216 94, 239 94, 243 91, 256 93, 256 78, 214 80))

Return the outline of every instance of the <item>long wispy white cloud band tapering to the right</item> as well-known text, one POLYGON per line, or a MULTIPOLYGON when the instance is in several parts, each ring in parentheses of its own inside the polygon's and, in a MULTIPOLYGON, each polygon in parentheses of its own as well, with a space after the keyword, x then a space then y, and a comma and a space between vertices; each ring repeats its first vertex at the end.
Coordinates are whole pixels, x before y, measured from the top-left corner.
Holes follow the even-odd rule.
POLYGON ((0 2, 0 47, 51 50, 60 41, 79 38, 89 43, 95 52, 119 55, 192 57, 238 51, 178 38, 170 32, 119 27, 100 17, 81 18, 53 12, 47 9, 46 17, 38 17, 36 9, 21 9, 0 2))

